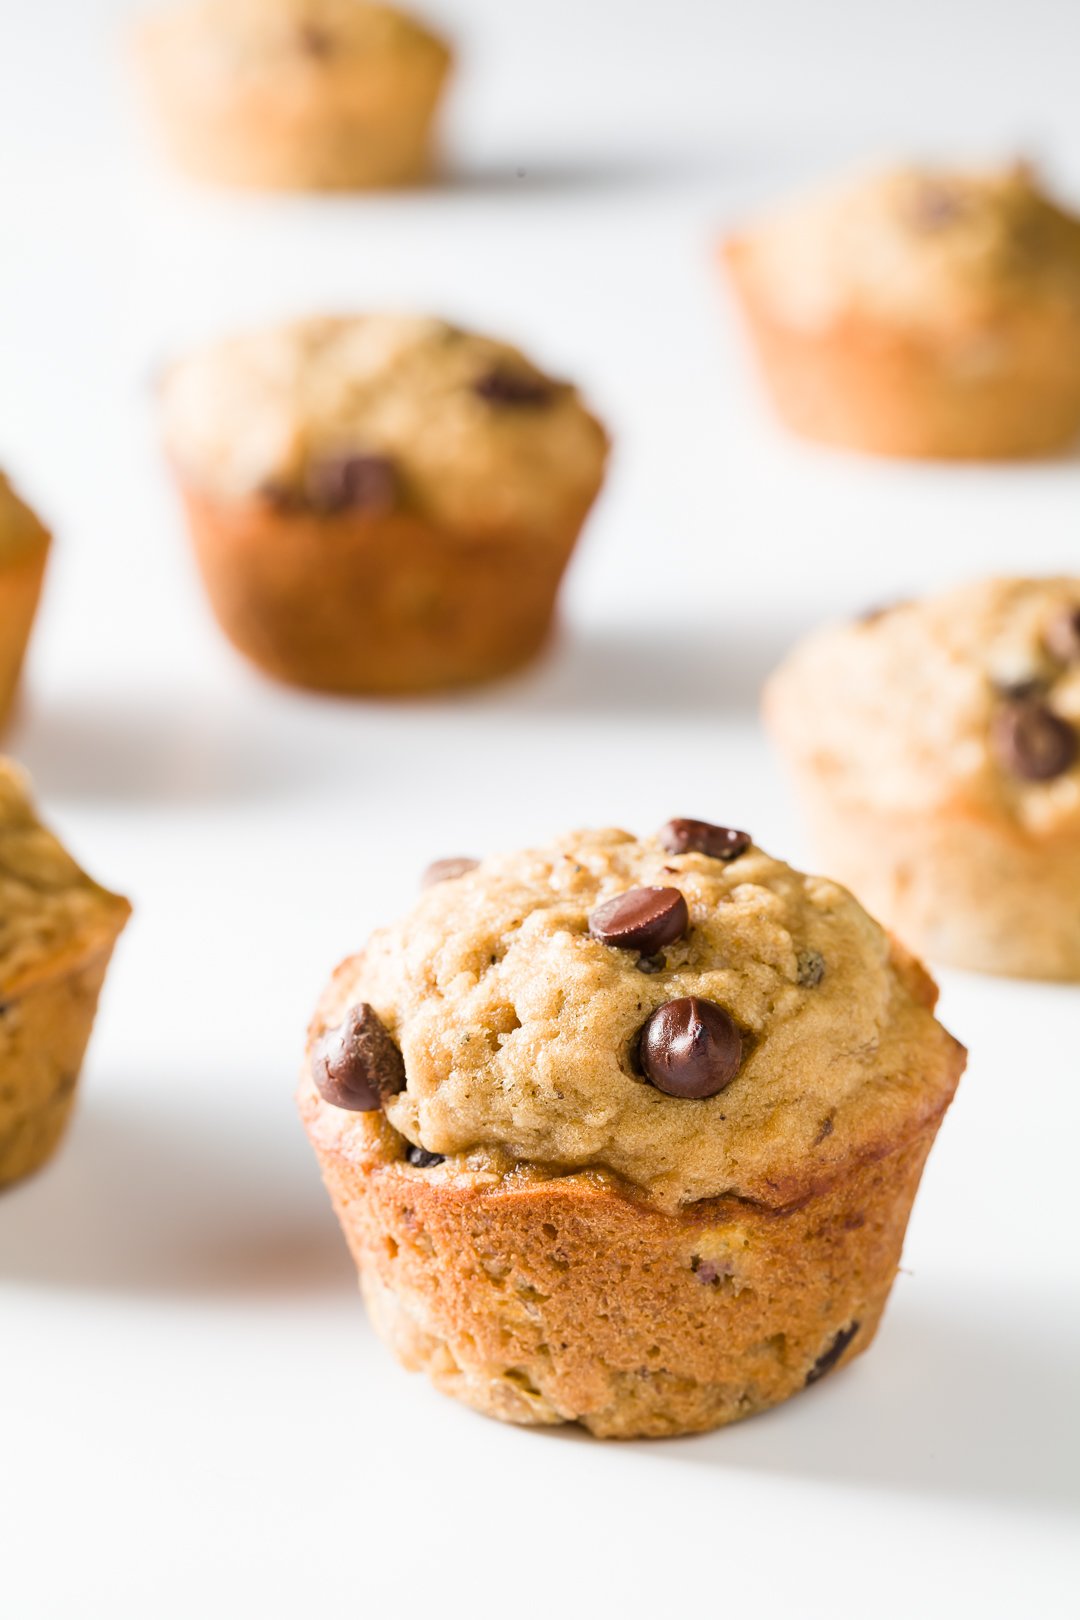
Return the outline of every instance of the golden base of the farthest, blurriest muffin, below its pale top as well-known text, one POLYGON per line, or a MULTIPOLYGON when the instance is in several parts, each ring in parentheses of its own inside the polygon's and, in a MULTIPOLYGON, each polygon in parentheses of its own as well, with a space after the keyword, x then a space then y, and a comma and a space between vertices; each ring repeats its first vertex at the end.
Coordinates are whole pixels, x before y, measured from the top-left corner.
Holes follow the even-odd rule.
POLYGON ((141 42, 165 146, 185 173, 259 191, 368 191, 418 185, 434 170, 432 125, 449 73, 445 53, 424 52, 356 84, 347 65, 295 81, 178 73, 167 39, 141 42))

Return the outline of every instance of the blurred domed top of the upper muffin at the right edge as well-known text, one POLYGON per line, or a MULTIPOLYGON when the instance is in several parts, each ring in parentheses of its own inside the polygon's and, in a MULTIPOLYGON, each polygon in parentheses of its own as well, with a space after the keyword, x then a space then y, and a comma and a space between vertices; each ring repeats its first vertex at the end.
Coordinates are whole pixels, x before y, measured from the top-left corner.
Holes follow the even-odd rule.
POLYGON ((950 330, 1048 306, 1080 321, 1080 219, 1017 164, 894 168, 811 194, 733 243, 774 308, 950 330))

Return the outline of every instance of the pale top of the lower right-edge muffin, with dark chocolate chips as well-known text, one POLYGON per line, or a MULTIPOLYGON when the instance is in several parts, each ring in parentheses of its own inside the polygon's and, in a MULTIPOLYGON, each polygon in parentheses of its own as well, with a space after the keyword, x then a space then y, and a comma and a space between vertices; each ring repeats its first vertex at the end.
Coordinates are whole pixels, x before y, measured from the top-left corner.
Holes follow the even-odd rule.
POLYGON ((840 797, 1080 836, 1080 580, 981 580, 823 630, 766 710, 840 797))

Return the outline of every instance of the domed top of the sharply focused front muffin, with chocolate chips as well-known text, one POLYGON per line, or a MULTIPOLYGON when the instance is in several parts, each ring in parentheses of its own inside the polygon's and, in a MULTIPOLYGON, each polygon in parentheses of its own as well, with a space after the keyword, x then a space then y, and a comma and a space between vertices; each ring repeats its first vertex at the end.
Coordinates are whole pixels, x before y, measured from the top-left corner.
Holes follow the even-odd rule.
POLYGON ((427 888, 330 982, 317 1131, 363 1155, 389 1121, 458 1170, 607 1171, 665 1209, 784 1205, 913 1137, 963 1063, 933 982, 839 885, 703 828, 573 833, 427 888), (382 1113, 337 1084, 348 1040, 382 1113))

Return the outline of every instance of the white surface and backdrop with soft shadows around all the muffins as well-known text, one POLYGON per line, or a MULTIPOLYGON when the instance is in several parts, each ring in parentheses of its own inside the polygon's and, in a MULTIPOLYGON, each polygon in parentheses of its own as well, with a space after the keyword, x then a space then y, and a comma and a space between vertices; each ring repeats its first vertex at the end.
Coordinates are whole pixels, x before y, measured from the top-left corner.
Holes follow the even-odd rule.
POLYGON ((1077 570, 1075 457, 784 439, 711 251, 850 159, 1023 147, 1080 198, 1078 13, 447 0, 457 181, 345 201, 170 177, 130 15, 0 0, 0 460, 57 530, 10 747, 136 906, 73 1134, 0 1202, 0 1610, 1074 1612, 1080 990, 942 975, 972 1064, 876 1348, 695 1440, 504 1429, 402 1374, 290 1092, 325 974, 431 857, 683 813, 808 859, 755 713, 792 637, 1077 570), (552 656, 436 703, 317 700, 235 659, 152 421, 191 339, 385 305, 518 339, 619 446, 552 656))

